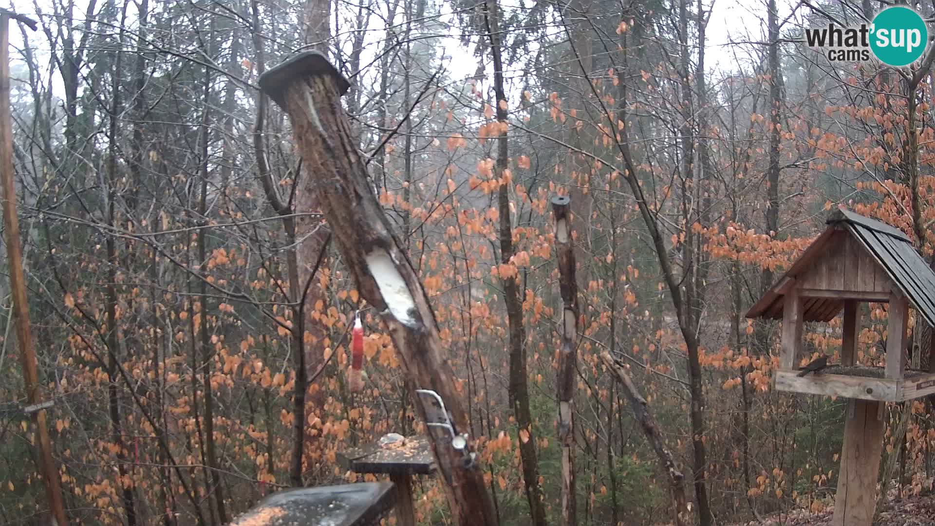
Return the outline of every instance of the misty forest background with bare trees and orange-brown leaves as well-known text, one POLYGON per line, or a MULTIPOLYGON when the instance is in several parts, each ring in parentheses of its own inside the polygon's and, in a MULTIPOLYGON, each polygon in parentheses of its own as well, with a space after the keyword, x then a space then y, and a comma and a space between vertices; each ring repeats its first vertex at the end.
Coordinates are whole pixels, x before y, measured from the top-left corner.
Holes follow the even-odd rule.
MULTIPOLYGON (((368 479, 337 453, 422 430, 389 336, 301 206, 288 119, 256 88, 305 49, 352 82, 354 140, 432 299, 501 523, 561 511, 556 194, 571 197, 580 285, 579 521, 671 517, 604 352, 649 402, 701 524, 829 504, 843 402, 773 391, 779 324, 743 314, 839 204, 931 260, 935 55, 830 63, 801 41, 882 3, 16 7, 39 22, 11 27, 29 307, 75 523, 223 524, 278 489, 368 479), (357 309, 367 378, 352 392, 357 309)), ((37 524, 6 277, 0 299, 0 522, 37 524)), ((886 309, 865 308, 858 357, 879 364, 886 309)), ((833 355, 840 319, 806 340, 833 355)), ((906 494, 932 485, 925 408, 887 415, 895 430, 912 414, 886 435, 906 494)), ((431 478, 416 511, 452 521, 431 478)))

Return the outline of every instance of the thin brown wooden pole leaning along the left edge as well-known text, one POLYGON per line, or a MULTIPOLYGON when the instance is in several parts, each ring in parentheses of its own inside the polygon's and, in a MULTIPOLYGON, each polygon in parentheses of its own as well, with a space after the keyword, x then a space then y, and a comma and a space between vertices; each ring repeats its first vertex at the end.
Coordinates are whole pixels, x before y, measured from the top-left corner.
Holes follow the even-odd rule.
MULTIPOLYGON (((9 107, 9 20, 21 20, 33 30, 36 22, 0 10, 0 179, 3 187, 3 221, 7 232, 7 257, 9 263, 9 285, 13 297, 13 313, 16 316, 16 337, 20 343, 22 377, 26 386, 26 400, 30 405, 41 404, 39 373, 36 365, 36 349, 33 347, 33 332, 29 326, 29 303, 26 298, 26 279, 22 271, 22 248, 20 246, 20 220, 16 213, 16 185, 13 182, 13 120, 9 107)), ((46 410, 39 409, 33 415, 39 446, 39 472, 46 487, 52 518, 57 526, 65 526, 65 503, 62 499, 62 484, 58 468, 52 459, 52 445, 46 410)))

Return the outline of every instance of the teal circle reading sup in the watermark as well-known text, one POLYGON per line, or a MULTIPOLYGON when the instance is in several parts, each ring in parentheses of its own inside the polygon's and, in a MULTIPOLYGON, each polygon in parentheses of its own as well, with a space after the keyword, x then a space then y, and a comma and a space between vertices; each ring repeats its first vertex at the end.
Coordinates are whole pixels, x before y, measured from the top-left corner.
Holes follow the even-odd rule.
POLYGON ((887 7, 873 18, 870 50, 889 66, 909 66, 928 47, 928 27, 909 7, 887 7))

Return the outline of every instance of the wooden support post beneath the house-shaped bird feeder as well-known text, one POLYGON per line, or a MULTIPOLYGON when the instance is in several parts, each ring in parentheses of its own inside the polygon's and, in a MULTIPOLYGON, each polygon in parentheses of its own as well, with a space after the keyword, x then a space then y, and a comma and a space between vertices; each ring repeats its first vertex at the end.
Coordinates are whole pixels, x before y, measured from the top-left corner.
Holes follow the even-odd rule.
POLYGON ((876 505, 876 483, 883 452, 883 402, 848 402, 833 526, 870 526, 876 505))

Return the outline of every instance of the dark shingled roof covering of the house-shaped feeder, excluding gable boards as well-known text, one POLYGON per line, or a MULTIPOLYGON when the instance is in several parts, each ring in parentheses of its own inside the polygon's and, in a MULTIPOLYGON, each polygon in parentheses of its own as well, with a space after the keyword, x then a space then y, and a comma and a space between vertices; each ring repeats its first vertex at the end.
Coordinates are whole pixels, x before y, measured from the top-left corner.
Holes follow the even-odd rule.
MULTIPOLYGON (((776 301, 784 295, 780 289, 789 277, 797 276, 799 272, 807 270, 809 260, 827 250, 826 243, 831 238, 836 227, 843 227, 867 250, 880 268, 885 270, 894 285, 899 287, 903 295, 913 304, 916 312, 921 314, 928 324, 935 326, 935 271, 929 268, 925 259, 913 248, 912 240, 898 228, 886 225, 876 219, 870 219, 859 213, 846 210, 832 212, 827 218, 828 229, 818 237, 799 256, 796 263, 784 274, 770 290, 755 303, 747 313, 747 317, 776 317, 782 316, 782 308, 777 311, 776 301)), ((840 300, 812 300, 816 305, 806 308, 806 321, 827 321, 841 310, 840 300), (827 308, 817 308, 827 303, 827 308)))

